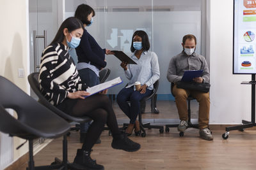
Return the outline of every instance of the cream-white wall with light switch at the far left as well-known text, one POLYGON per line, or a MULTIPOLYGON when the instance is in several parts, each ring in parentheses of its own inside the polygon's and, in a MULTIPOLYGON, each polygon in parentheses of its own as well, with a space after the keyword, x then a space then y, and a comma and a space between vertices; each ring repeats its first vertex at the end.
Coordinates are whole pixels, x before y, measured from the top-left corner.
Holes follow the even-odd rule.
MULTIPOLYGON (((0 75, 29 93, 28 0, 1 0, 0 20, 0 75), (18 68, 25 70, 24 78, 18 78, 18 68)), ((15 149, 23 141, 13 138, 13 160, 28 152, 28 145, 15 149)))

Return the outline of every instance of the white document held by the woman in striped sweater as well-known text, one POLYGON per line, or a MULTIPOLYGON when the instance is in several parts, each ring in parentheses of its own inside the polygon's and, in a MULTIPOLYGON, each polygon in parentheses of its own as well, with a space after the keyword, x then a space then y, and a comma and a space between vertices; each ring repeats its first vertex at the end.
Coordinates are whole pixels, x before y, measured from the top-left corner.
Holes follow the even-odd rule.
MULTIPOLYGON (((119 85, 121 83, 123 83, 122 79, 120 77, 117 77, 113 80, 106 81, 105 83, 101 83, 99 85, 89 87, 88 89, 86 89, 86 92, 89 92, 90 96, 91 96, 97 92, 101 92, 102 90, 109 89, 109 88, 114 87, 115 85, 119 85)), ((86 96, 86 97, 88 97, 88 96, 86 96)))

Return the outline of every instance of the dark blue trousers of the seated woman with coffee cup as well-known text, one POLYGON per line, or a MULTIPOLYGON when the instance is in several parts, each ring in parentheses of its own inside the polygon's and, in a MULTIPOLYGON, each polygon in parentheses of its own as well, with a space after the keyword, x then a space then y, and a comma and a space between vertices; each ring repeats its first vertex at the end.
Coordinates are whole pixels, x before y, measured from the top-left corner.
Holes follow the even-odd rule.
POLYGON ((130 118, 130 124, 135 124, 136 118, 140 113, 140 101, 144 97, 150 96, 153 90, 146 90, 145 94, 141 94, 137 90, 134 91, 134 87, 122 89, 117 97, 116 101, 120 109, 130 118), (130 105, 127 101, 131 101, 130 105))

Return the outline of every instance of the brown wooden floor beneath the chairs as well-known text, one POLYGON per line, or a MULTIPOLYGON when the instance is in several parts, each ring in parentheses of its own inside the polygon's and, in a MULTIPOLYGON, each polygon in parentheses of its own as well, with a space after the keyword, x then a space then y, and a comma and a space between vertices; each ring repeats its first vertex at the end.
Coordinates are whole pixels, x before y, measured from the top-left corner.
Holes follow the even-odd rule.
MULTIPOLYGON (((163 101, 157 103, 159 115, 149 113, 147 103, 143 118, 179 118, 175 103, 163 101)), ((116 117, 125 118, 114 103, 116 117)), ((192 118, 197 117, 198 104, 191 103, 192 118)), ((256 131, 232 131, 227 140, 221 138, 225 132, 213 131, 214 141, 205 141, 198 136, 198 129, 187 129, 184 137, 179 137, 176 128, 159 134, 157 129, 147 129, 147 136, 131 139, 141 144, 138 152, 124 152, 111 148, 111 136, 102 132, 102 143, 93 146, 92 158, 104 165, 106 170, 124 169, 256 169, 256 131)), ((79 133, 72 132, 68 137, 68 160, 72 162, 79 143, 79 133)), ((54 157, 61 158, 62 138, 54 139, 48 146, 35 155, 36 166, 51 164, 54 157)), ((26 165, 20 169, 26 169, 26 165)), ((15 169, 16 170, 16 169, 15 169)))

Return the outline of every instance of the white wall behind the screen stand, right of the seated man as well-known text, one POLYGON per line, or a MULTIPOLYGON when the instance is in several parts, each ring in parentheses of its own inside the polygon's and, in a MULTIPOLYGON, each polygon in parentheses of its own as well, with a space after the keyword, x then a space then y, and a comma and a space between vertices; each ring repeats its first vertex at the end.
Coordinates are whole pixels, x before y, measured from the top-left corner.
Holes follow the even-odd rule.
POLYGON ((241 124, 251 117, 250 75, 232 74, 233 0, 207 1, 207 54, 211 73, 210 124, 241 124))

